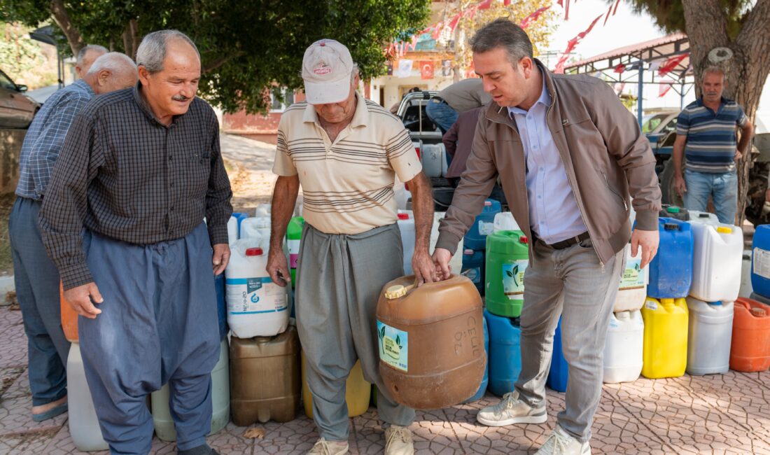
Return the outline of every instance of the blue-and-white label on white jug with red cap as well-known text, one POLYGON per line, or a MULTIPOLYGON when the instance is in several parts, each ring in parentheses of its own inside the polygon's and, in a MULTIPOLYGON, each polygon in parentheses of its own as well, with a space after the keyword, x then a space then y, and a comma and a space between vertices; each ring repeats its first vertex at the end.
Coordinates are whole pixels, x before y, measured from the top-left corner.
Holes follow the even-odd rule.
POLYGON ((286 289, 273 283, 269 276, 228 278, 226 284, 229 314, 277 313, 286 311, 286 289))

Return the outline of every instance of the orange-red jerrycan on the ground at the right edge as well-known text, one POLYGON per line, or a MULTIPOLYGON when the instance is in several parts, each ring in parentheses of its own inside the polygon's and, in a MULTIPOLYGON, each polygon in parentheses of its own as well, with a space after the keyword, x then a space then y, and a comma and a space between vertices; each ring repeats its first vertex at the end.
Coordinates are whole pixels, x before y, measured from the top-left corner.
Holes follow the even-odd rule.
POLYGON ((767 370, 770 368, 770 306, 738 297, 734 308, 730 369, 767 370))

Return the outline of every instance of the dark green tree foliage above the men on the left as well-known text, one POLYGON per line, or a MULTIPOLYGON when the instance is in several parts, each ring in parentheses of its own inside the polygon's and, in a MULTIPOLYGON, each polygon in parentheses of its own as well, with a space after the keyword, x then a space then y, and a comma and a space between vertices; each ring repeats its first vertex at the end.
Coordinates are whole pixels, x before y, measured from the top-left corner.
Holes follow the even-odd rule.
POLYGON ((4 0, 0 19, 32 26, 53 20, 72 52, 90 43, 131 56, 143 35, 176 28, 201 52, 201 95, 226 112, 263 112, 269 87, 302 87, 303 53, 320 38, 347 45, 363 79, 383 75, 383 45, 423 28, 429 5, 429 0, 4 0))

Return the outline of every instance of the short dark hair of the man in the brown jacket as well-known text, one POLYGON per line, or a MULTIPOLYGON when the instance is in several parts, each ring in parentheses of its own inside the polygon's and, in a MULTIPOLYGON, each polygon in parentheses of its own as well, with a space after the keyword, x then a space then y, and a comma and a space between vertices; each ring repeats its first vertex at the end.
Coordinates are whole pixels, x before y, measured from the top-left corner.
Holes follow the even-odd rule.
POLYGON ((503 48, 514 66, 524 57, 534 59, 532 42, 527 32, 507 18, 499 18, 484 25, 468 40, 468 44, 474 53, 503 48))

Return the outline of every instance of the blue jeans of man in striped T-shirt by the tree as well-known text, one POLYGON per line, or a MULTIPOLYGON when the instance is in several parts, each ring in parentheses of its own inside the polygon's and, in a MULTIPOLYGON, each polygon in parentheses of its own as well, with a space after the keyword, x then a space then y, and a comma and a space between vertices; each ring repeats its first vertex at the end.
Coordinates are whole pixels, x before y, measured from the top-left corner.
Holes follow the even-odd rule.
POLYGON ((738 210, 738 176, 735 171, 696 172, 685 169, 685 209, 705 212, 708 196, 714 200, 719 222, 735 224, 738 210))

